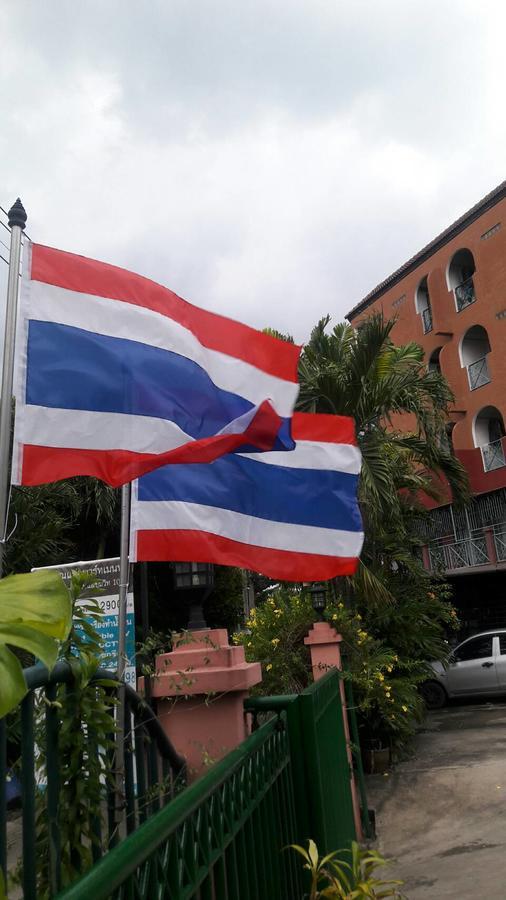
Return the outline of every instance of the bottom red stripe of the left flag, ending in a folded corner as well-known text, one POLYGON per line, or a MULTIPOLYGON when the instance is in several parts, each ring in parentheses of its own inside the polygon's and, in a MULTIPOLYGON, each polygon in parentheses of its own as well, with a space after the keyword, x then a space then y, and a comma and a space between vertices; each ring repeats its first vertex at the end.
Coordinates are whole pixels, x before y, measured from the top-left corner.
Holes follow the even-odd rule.
POLYGON ((78 450, 69 447, 23 446, 21 484, 45 484, 72 478, 74 475, 93 475, 112 487, 119 487, 134 478, 168 463, 208 463, 225 453, 232 453, 243 445, 270 450, 276 439, 281 418, 268 401, 262 403, 248 428, 240 434, 218 434, 189 441, 167 453, 134 453, 131 450, 78 450))

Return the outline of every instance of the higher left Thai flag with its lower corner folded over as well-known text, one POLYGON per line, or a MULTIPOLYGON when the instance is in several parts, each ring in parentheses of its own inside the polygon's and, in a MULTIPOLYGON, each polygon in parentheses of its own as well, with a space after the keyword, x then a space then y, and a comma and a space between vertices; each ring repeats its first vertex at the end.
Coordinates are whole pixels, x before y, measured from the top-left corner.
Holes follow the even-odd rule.
POLYGON ((116 486, 169 462, 289 450, 299 352, 140 275, 33 244, 13 483, 95 475, 116 486))

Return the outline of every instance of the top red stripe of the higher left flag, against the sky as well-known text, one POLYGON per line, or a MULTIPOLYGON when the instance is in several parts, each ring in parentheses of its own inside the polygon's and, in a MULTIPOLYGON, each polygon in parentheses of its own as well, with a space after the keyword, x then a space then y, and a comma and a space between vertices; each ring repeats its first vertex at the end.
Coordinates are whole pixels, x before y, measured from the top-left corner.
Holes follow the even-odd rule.
POLYGON ((199 309, 169 288, 127 269, 33 244, 31 278, 76 293, 109 297, 152 309, 184 325, 204 347, 242 359, 285 381, 297 382, 301 351, 297 345, 199 309))

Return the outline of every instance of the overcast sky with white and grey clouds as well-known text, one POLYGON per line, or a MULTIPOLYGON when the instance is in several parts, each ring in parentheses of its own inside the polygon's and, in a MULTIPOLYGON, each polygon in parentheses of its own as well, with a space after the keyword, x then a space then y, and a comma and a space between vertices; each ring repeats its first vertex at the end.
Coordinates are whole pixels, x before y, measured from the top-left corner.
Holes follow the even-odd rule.
POLYGON ((342 318, 506 177, 500 0, 2 7, 0 204, 257 327, 342 318))

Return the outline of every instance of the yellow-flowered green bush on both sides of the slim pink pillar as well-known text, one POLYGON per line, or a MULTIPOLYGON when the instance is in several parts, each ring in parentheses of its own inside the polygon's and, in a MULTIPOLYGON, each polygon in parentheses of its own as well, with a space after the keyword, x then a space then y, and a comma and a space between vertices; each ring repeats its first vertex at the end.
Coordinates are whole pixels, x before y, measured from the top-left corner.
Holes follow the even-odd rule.
MULTIPOLYGON (((424 714, 418 686, 427 678, 427 661, 447 651, 445 627, 456 623, 445 585, 423 580, 409 584, 395 603, 374 612, 327 605, 325 617, 342 635, 345 677, 353 683, 361 738, 402 751, 424 714)), ((304 644, 315 621, 310 595, 281 588, 252 611, 246 631, 234 635, 249 661, 262 664, 256 693, 298 693, 312 680, 304 644)))

